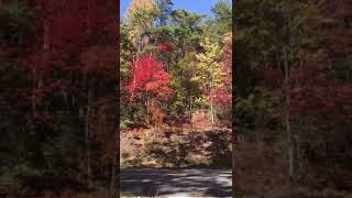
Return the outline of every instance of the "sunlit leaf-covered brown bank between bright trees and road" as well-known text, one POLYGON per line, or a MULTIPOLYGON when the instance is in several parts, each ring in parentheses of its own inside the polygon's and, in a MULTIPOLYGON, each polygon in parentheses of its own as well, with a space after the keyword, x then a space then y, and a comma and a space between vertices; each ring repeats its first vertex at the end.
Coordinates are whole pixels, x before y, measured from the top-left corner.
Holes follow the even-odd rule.
POLYGON ((231 167, 229 129, 141 129, 122 133, 121 167, 231 167))

